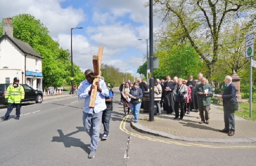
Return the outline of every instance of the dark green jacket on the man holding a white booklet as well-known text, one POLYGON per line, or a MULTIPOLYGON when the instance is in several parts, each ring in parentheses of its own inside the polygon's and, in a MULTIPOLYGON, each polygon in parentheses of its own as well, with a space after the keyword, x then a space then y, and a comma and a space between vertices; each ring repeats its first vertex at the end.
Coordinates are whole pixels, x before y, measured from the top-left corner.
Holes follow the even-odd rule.
POLYGON ((205 85, 198 84, 195 89, 195 95, 197 96, 197 104, 198 105, 210 105, 211 104, 211 97, 213 95, 213 87, 206 83, 205 85), (199 92, 204 93, 205 89, 208 89, 209 93, 206 96, 205 94, 199 94, 199 92))

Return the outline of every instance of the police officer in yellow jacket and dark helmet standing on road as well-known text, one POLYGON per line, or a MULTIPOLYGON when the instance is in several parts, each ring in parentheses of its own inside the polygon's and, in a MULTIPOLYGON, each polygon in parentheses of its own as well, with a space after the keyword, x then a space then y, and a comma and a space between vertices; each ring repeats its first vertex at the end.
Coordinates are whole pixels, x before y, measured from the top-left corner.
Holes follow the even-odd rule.
POLYGON ((13 84, 10 84, 5 92, 5 98, 8 99, 8 107, 4 121, 7 121, 10 113, 12 112, 14 106, 16 107, 16 120, 20 117, 21 103, 25 97, 24 89, 22 85, 19 85, 19 78, 14 77, 13 84))

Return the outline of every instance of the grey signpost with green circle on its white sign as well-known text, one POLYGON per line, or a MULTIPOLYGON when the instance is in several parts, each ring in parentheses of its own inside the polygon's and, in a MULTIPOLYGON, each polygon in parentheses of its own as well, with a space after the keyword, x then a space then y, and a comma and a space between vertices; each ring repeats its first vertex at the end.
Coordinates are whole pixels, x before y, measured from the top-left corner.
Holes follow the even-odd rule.
POLYGON ((249 117, 252 117, 252 67, 256 67, 256 61, 252 59, 254 54, 254 34, 246 36, 246 58, 250 58, 250 108, 249 117))

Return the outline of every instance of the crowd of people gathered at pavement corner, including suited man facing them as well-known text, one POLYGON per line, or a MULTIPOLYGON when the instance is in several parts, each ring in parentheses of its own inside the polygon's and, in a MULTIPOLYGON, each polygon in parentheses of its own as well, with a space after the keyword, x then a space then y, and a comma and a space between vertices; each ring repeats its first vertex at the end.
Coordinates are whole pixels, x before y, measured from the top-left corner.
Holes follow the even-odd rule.
MULTIPOLYGON (((193 110, 199 112, 198 119, 201 119, 200 124, 209 124, 210 119, 210 104, 211 97, 214 94, 216 87, 222 89, 223 95, 217 95, 217 97, 222 97, 223 103, 225 105, 225 98, 227 102, 236 101, 236 91, 227 92, 227 87, 232 82, 230 76, 226 76, 224 83, 219 84, 214 83, 203 77, 202 73, 198 73, 198 79, 195 80, 192 75, 189 76, 189 80, 184 80, 182 78, 173 77, 171 79, 170 75, 166 76, 166 80, 156 79, 154 82, 154 105, 155 114, 162 115, 161 109, 166 112, 166 114, 175 113, 174 119, 182 120, 185 114, 190 114, 193 110), (229 95, 226 95, 229 93, 229 95)), ((232 84, 233 87, 233 84, 232 84)), ((139 109, 143 108, 143 98, 142 92, 148 91, 149 86, 138 78, 137 82, 130 83, 130 81, 123 82, 119 87, 121 93, 121 101, 124 108, 124 117, 129 114, 129 110, 132 111, 134 115, 134 122, 138 121, 139 109), (132 86, 131 86, 132 85, 132 86), (126 108, 128 109, 126 113, 126 108)), ((230 104, 229 104, 230 105, 230 104)), ((233 108, 233 105, 231 106, 233 108)), ((228 108, 226 107, 226 110, 228 108)), ((234 134, 234 116, 233 109, 228 115, 224 114, 225 128, 220 130, 220 132, 229 131, 229 136, 234 134), (228 125, 231 125, 229 129, 228 125), (232 132, 232 133, 231 133, 232 132)))

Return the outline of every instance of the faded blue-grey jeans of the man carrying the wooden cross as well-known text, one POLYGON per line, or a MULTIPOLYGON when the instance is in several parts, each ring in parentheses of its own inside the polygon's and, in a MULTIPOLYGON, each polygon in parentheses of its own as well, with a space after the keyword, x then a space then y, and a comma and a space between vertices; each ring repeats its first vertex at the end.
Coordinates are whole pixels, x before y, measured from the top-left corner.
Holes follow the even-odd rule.
POLYGON ((100 130, 101 130, 102 111, 99 113, 83 112, 83 123, 85 131, 91 137, 91 150, 96 150, 98 146, 100 130))

